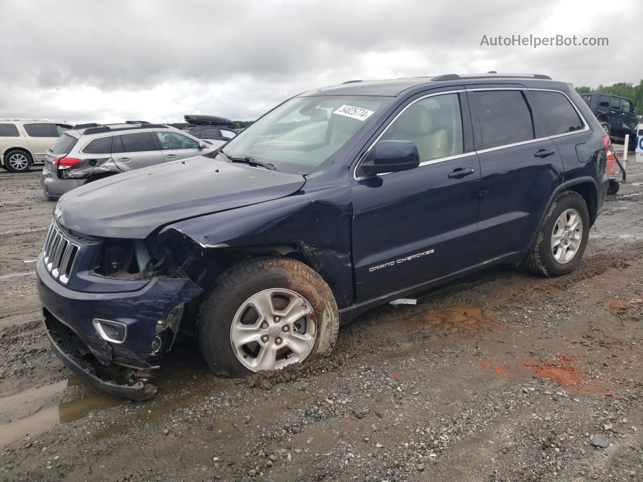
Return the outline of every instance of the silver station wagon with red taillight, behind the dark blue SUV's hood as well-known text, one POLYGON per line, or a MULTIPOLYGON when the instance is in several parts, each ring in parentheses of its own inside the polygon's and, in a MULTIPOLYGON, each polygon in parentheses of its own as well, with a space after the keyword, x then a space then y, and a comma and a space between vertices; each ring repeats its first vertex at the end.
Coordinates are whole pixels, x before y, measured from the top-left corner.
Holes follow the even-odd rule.
POLYGON ((76 125, 45 153, 42 192, 55 201, 96 179, 201 156, 217 147, 174 127, 143 121, 76 125))

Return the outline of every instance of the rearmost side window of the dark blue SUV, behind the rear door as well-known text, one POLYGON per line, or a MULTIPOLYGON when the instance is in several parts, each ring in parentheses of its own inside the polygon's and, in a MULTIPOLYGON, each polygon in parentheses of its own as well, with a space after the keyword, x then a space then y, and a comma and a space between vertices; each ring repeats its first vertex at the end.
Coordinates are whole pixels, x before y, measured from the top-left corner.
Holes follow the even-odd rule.
POLYGON ((527 100, 545 136, 574 132, 584 127, 574 106, 561 93, 527 91, 527 100))

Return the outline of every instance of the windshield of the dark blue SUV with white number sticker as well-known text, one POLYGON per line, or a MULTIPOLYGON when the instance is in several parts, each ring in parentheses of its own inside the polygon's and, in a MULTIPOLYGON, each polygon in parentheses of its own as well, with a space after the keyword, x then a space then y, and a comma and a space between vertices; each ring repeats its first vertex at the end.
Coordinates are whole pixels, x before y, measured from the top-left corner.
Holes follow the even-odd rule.
POLYGON ((387 97, 296 97, 250 125, 222 149, 291 174, 311 174, 364 129, 391 102, 387 97))

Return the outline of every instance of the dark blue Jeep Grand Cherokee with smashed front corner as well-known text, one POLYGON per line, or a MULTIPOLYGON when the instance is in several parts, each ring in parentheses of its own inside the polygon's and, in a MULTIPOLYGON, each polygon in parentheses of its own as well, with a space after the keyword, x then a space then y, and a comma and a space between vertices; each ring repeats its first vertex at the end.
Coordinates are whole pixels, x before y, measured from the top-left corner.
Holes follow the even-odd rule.
POLYGON ((331 352, 341 322, 499 263, 572 271, 609 138, 543 75, 346 82, 218 152, 64 195, 37 261, 53 350, 142 400, 179 332, 242 376, 331 352))

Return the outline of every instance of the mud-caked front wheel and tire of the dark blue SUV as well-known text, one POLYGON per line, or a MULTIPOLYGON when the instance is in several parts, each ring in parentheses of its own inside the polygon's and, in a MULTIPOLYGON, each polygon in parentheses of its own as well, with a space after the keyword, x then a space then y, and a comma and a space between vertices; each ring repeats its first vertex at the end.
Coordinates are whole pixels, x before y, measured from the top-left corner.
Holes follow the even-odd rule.
POLYGON ((289 258, 253 258, 228 269, 204 297, 197 321, 206 364, 226 377, 327 355, 339 327, 329 286, 289 258))

